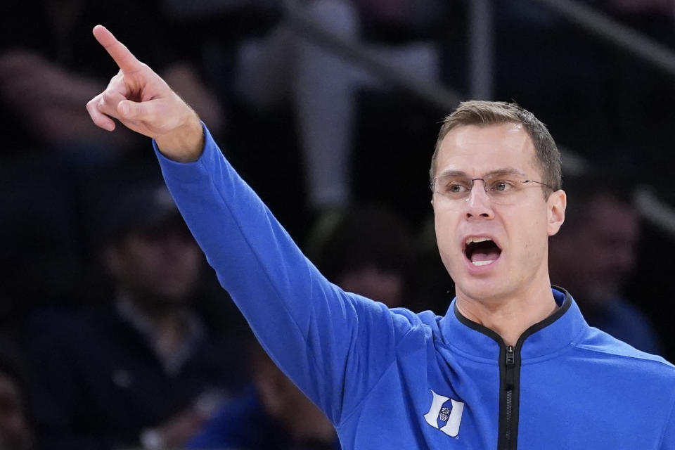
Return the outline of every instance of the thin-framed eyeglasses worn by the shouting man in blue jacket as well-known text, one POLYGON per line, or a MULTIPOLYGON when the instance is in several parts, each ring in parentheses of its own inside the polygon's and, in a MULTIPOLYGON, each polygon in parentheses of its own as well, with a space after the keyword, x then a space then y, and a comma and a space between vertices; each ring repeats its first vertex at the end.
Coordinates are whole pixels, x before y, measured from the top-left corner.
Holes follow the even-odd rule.
POLYGON ((442 200, 448 200, 450 205, 461 205, 461 201, 468 201, 475 181, 483 182, 485 193, 492 203, 497 205, 513 205, 518 203, 527 186, 539 186, 555 191, 548 184, 534 180, 514 180, 504 178, 503 175, 486 176, 485 178, 468 179, 455 174, 437 176, 429 186, 433 193, 442 200))

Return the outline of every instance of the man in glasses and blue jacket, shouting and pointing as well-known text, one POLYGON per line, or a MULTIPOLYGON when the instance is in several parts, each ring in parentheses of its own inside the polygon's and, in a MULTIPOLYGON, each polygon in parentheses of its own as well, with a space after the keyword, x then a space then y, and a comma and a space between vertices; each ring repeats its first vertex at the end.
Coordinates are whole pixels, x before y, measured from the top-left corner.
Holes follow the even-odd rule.
POLYGON ((473 102, 446 120, 432 203, 456 300, 444 317, 390 310, 328 283, 193 110, 108 30, 94 35, 120 72, 87 104, 92 120, 153 137, 221 284, 343 448, 675 449, 675 368, 589 328, 551 289, 566 199, 530 113, 473 102))

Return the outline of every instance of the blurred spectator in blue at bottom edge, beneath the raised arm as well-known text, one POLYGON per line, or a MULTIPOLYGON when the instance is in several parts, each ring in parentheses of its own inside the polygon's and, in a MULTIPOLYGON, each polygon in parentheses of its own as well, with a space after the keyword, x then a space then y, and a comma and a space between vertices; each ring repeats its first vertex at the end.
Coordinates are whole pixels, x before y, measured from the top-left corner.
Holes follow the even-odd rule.
POLYGON ((224 404, 188 449, 340 449, 333 425, 295 387, 257 342, 250 352, 253 385, 224 404))

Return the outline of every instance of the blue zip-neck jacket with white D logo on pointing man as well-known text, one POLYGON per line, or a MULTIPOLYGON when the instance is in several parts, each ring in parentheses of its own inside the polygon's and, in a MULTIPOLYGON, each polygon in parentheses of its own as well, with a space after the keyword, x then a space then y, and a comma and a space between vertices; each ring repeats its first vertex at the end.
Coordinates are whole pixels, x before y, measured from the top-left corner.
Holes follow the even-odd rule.
POLYGON ((221 285, 343 449, 675 450, 675 367, 591 328, 569 294, 515 347, 465 319, 387 309, 321 276, 205 131, 169 191, 221 285))

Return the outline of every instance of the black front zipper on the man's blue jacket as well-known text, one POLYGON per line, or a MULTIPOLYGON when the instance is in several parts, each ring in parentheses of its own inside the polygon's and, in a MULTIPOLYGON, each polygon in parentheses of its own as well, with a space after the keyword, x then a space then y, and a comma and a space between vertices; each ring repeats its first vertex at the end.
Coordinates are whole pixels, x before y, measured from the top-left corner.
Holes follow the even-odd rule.
POLYGON ((518 380, 516 354, 513 345, 504 352, 502 393, 499 420, 499 450, 515 450, 518 439, 518 380))

